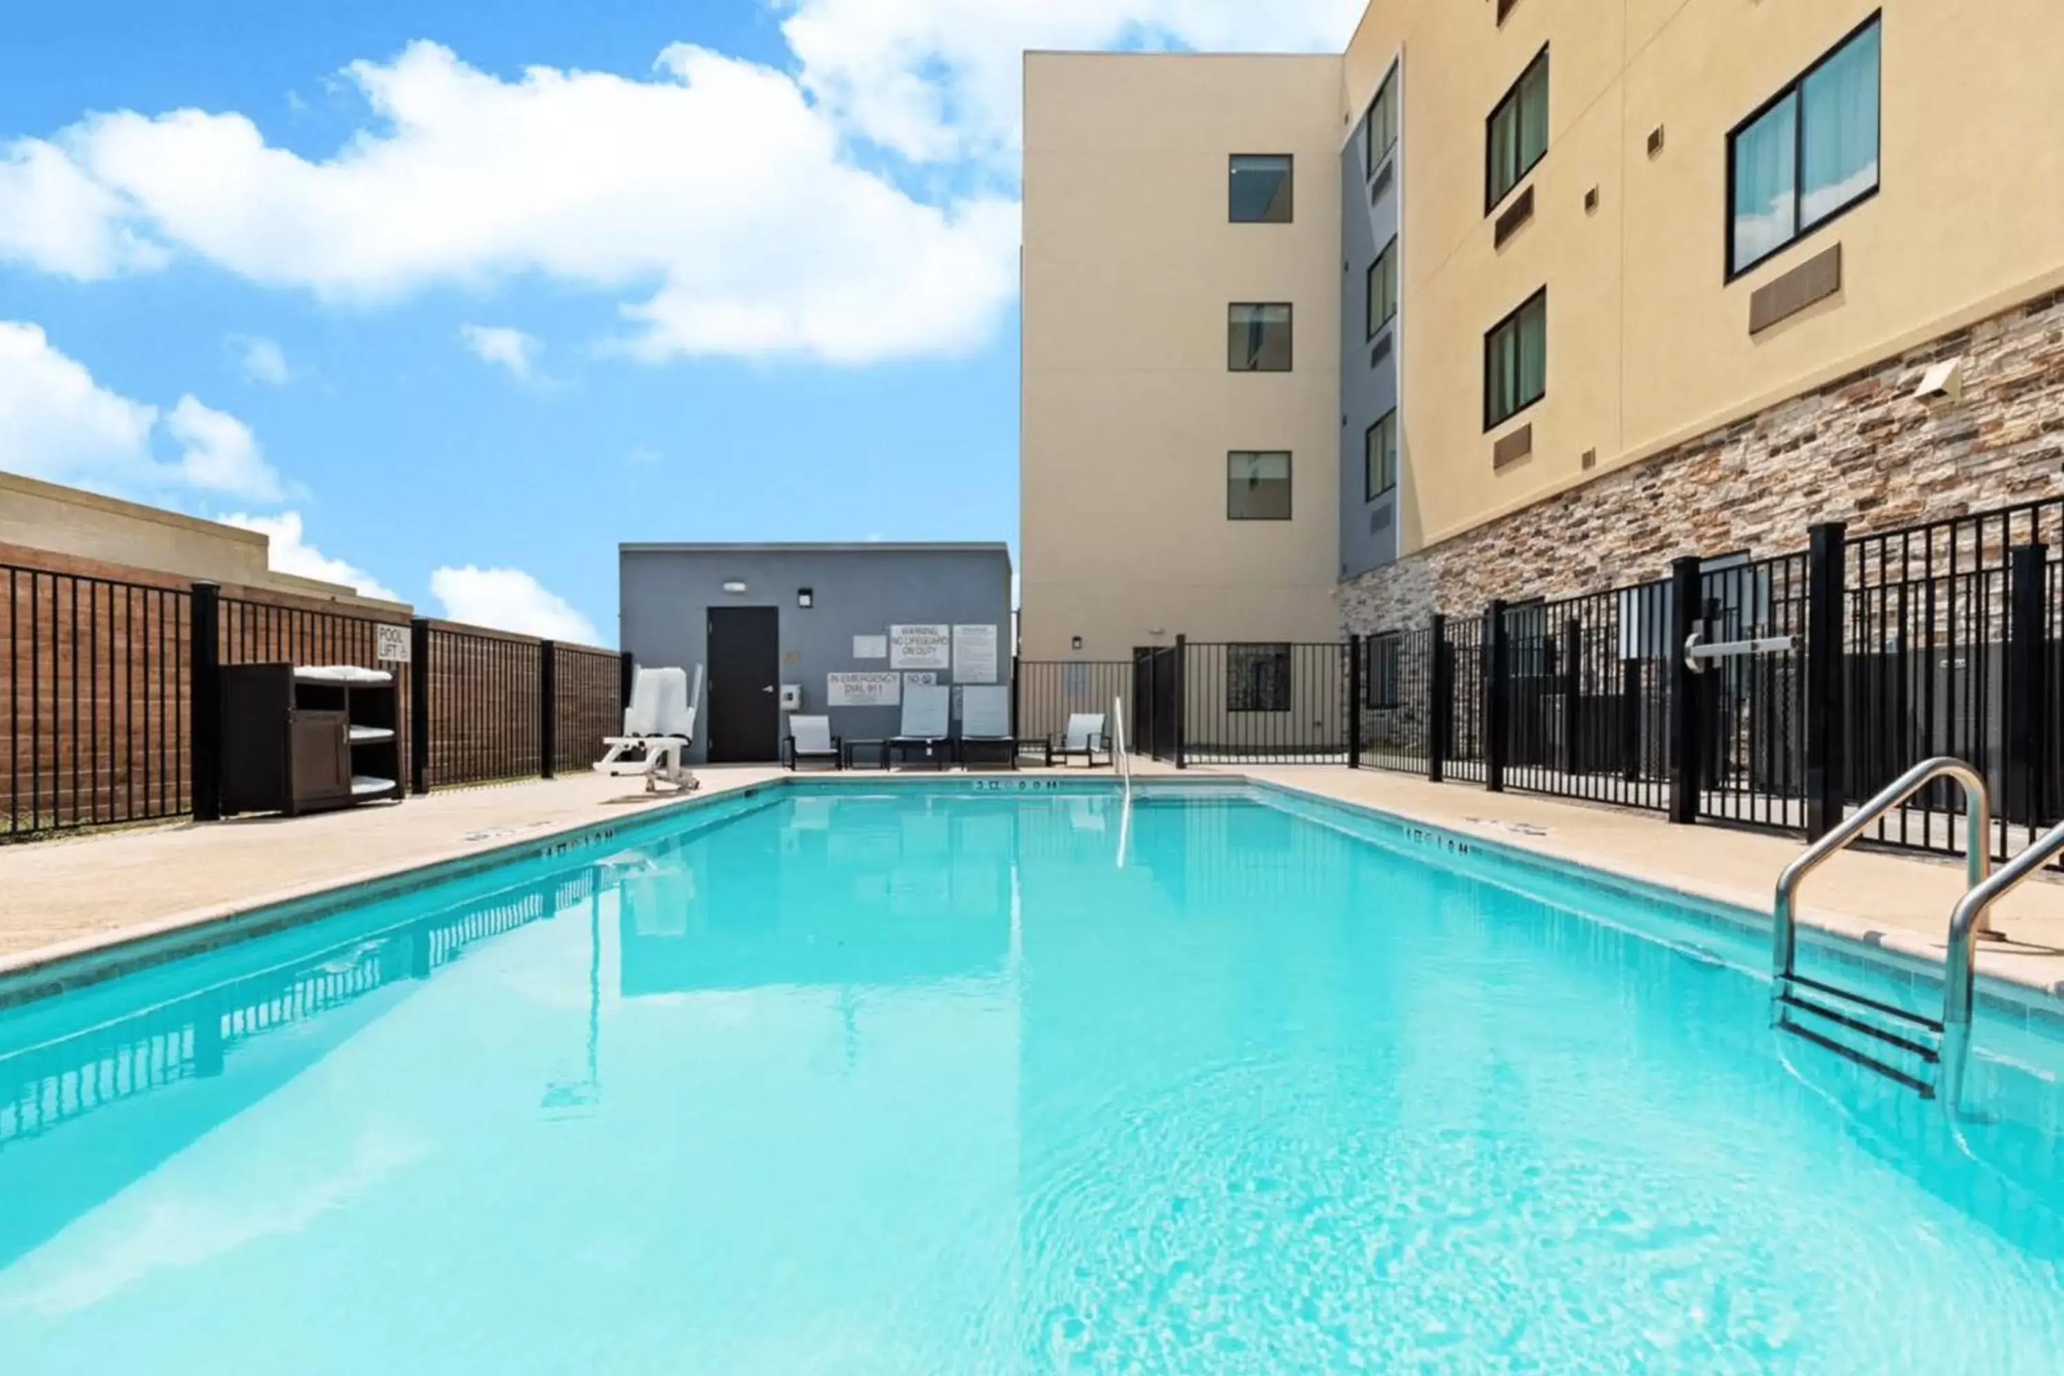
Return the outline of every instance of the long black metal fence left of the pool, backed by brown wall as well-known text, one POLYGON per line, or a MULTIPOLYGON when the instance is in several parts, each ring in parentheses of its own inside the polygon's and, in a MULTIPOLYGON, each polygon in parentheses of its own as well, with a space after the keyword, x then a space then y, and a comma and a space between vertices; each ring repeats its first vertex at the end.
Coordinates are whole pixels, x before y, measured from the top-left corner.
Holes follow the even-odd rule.
POLYGON ((630 691, 627 658, 588 646, 215 584, 21 565, 0 582, 0 840, 215 819, 223 664, 390 670, 415 792, 586 767, 630 691))

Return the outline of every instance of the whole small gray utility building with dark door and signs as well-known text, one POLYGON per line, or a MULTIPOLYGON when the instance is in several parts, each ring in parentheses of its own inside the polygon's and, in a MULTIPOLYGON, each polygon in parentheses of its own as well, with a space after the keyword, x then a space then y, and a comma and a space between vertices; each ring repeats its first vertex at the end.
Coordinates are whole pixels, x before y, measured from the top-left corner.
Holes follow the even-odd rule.
POLYGON ((617 559, 619 644, 689 679, 706 666, 698 763, 778 759, 795 712, 879 741, 906 683, 1011 681, 1001 543, 621 545, 617 559))

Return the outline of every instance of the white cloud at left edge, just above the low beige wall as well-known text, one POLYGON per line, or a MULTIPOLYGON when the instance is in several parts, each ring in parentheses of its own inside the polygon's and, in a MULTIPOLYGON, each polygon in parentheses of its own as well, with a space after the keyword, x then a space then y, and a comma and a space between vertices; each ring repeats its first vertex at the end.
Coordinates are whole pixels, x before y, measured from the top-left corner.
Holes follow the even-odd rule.
POLYGON ((41 328, 0 320, 0 468, 124 497, 188 491, 281 501, 279 472, 233 415, 182 396, 169 413, 99 386, 41 328), (159 450, 175 450, 159 458, 159 450))

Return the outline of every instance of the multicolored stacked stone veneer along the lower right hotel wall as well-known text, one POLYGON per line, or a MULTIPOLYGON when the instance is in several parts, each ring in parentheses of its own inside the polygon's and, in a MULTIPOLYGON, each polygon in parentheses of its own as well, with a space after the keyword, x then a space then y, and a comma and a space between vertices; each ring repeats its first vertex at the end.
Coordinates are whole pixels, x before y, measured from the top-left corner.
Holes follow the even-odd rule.
POLYGON ((1344 582, 1342 631, 1664 578, 1678 555, 1802 551, 1818 520, 1862 534, 2058 493, 2064 291, 1344 582), (1913 400, 1959 355, 1963 400, 1913 400))

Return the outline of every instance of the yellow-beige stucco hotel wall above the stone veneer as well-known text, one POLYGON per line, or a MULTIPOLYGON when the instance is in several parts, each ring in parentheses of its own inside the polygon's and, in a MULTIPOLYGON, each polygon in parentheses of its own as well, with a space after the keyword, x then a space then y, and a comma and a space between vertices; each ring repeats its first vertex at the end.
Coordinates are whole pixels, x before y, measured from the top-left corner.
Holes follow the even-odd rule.
POLYGON ((2064 10, 2045 0, 1519 0, 1503 29, 1488 2, 1375 0, 1342 68, 1350 118, 1399 47, 1408 551, 2064 283, 2064 140, 2043 134, 2064 128, 2064 10), (1728 283, 1728 130, 1876 8, 1878 196, 1728 283), (1538 208, 1494 250, 1484 120, 1544 43, 1538 208), (1750 293, 1837 241, 1841 295, 1750 338, 1750 293), (1546 400, 1486 435, 1484 330, 1544 283, 1546 400), (1531 458, 1494 470, 1521 423, 1531 458))

